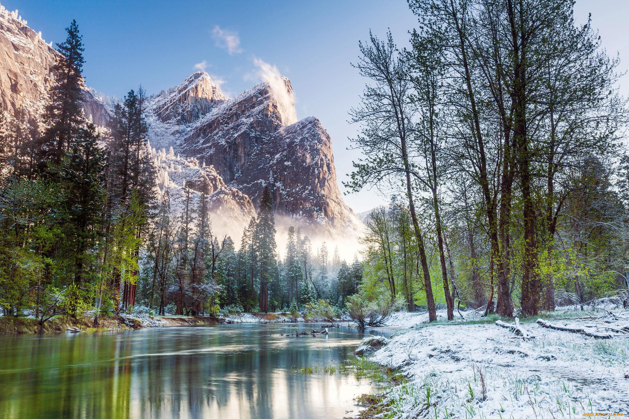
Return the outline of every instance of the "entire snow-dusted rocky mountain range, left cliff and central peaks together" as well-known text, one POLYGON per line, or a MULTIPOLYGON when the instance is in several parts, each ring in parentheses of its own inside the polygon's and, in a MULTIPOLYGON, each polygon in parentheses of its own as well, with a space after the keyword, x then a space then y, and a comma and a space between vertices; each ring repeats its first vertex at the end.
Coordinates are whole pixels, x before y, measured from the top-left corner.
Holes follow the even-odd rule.
MULTIPOLYGON (((17 12, 0 6, 4 111, 42 111, 56 54, 17 12)), ((110 102, 86 87, 84 111, 97 125, 105 126, 110 102)), ((338 188, 330 136, 315 117, 297 120, 286 77, 230 98, 208 73, 196 72, 152 95, 148 108, 156 192, 168 192, 175 212, 189 182, 196 199, 203 190, 208 193, 214 226, 242 229, 269 184, 279 223, 322 239, 360 230, 362 222, 338 188)))

